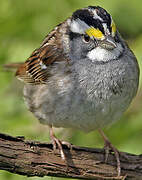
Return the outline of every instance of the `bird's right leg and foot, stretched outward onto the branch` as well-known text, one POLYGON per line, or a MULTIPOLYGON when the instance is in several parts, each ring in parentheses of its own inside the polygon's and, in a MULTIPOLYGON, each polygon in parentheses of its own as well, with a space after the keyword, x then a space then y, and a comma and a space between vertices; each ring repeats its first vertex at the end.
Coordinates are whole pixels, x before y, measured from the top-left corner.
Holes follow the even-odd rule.
POLYGON ((104 145, 105 162, 107 162, 107 160, 108 160, 109 151, 112 150, 114 152, 114 155, 115 155, 115 158, 116 158, 116 161, 117 161, 118 176, 120 176, 121 167, 120 167, 119 151, 111 144, 111 142, 109 141, 109 139, 106 137, 106 135, 104 134, 104 132, 101 129, 99 129, 98 131, 101 134, 101 136, 103 137, 104 142, 105 142, 105 145, 104 145))

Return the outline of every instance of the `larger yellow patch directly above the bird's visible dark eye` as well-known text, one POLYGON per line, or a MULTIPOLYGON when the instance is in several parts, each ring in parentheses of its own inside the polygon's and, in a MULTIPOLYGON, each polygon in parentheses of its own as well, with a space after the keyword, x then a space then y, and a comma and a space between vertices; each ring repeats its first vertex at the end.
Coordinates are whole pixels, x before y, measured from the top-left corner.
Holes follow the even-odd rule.
POLYGON ((86 34, 89 37, 95 37, 97 39, 102 39, 104 38, 103 33, 99 29, 95 29, 94 27, 90 27, 89 29, 86 30, 86 34))

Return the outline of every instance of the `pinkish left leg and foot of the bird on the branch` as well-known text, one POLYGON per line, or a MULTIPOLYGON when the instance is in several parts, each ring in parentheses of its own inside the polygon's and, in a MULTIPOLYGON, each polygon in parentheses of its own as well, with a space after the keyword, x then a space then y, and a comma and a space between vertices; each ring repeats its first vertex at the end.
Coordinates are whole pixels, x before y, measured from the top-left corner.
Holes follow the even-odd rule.
POLYGON ((61 154, 61 158, 63 160, 66 160, 66 157, 65 157, 65 153, 63 151, 63 146, 62 145, 66 145, 69 149, 72 149, 72 145, 66 141, 60 141, 54 134, 53 132, 53 128, 52 126, 49 127, 50 128, 50 139, 51 139, 51 142, 53 144, 53 150, 55 151, 58 147, 59 151, 60 151, 60 154, 61 154))

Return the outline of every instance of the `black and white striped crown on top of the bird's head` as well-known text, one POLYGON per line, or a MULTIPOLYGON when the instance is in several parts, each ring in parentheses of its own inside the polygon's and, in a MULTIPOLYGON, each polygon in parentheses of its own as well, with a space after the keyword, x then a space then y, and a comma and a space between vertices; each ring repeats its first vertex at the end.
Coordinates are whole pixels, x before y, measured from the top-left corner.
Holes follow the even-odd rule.
POLYGON ((103 34, 111 33, 112 17, 99 6, 90 6, 73 13, 70 30, 74 33, 85 34, 90 27, 99 29, 103 34))

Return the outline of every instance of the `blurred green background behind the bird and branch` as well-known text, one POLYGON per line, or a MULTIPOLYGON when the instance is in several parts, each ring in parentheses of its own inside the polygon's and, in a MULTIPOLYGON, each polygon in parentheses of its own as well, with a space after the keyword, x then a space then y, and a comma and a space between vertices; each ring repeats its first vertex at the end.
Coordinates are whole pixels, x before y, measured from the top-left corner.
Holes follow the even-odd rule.
MULTIPOLYGON (((49 141, 48 128, 39 124, 27 111, 22 98, 23 84, 2 65, 25 61, 54 26, 77 8, 100 5, 113 16, 116 25, 134 51, 142 69, 142 1, 130 0, 1 0, 0 1, 0 132, 27 139, 49 141)), ((106 129, 111 142, 121 151, 142 154, 142 91, 140 88, 120 121, 106 129)), ((57 129, 59 138, 73 144, 102 147, 97 132, 57 129)), ((0 171, 0 180, 38 180, 0 171)), ((61 180, 44 177, 42 179, 61 180)))

